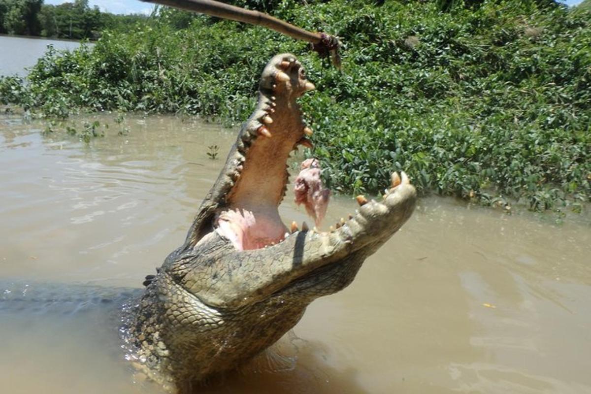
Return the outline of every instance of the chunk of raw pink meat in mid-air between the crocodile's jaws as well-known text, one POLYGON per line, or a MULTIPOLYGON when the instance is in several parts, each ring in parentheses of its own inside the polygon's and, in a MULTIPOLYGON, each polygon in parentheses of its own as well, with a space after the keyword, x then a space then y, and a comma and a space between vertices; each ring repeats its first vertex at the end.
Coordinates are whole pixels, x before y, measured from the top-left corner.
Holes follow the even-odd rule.
POLYGON ((325 189, 320 180, 320 162, 306 159, 301 164, 301 171, 294 181, 296 204, 304 204, 307 213, 320 225, 329 205, 330 190, 325 189))

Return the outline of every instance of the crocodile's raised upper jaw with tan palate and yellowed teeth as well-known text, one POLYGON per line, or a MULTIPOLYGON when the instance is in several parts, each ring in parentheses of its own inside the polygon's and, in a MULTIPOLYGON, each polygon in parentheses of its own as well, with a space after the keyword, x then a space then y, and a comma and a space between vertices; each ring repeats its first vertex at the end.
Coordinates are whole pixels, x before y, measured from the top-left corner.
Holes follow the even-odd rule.
POLYGON ((203 201, 187 246, 195 246, 215 229, 224 210, 270 210, 271 216, 278 217, 275 212, 287 188, 287 159, 298 145, 311 146, 306 138, 311 130, 301 119, 296 99, 313 89, 293 54, 280 54, 269 61, 262 72, 256 108, 203 201))

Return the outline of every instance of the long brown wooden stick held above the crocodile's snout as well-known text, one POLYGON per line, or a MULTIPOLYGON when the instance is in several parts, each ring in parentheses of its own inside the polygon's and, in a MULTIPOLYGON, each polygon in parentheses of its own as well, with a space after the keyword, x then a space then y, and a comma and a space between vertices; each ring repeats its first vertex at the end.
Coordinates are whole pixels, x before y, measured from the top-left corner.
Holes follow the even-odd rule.
POLYGON ((271 17, 259 11, 243 9, 234 5, 225 4, 213 0, 141 0, 154 4, 168 5, 213 17, 231 19, 232 21, 245 22, 252 25, 264 26, 269 29, 288 35, 296 40, 308 41, 313 44, 313 49, 322 57, 331 56, 335 66, 339 66, 338 55, 339 40, 322 32, 310 32, 289 24, 281 19, 271 17))

